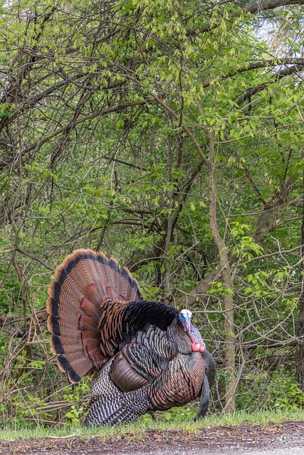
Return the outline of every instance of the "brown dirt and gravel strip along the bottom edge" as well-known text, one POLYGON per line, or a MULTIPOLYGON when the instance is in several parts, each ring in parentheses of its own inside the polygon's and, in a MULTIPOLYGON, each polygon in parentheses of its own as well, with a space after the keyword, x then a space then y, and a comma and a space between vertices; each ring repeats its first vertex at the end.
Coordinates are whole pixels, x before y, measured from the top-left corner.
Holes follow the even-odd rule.
MULTIPOLYGON (((224 454, 252 449, 304 447, 304 421, 283 424, 243 424, 236 427, 201 428, 194 434, 181 431, 141 434, 130 431, 105 441, 102 437, 81 439, 48 437, 0 443, 0 454, 48 455, 140 455, 140 454, 224 454)), ((298 450, 298 449, 297 449, 298 450)), ((280 452, 281 453, 281 452, 280 452)), ((293 453, 292 451, 290 453, 293 453)), ((301 453, 300 451, 297 453, 301 453)), ((304 449, 303 449, 304 454, 304 449)))

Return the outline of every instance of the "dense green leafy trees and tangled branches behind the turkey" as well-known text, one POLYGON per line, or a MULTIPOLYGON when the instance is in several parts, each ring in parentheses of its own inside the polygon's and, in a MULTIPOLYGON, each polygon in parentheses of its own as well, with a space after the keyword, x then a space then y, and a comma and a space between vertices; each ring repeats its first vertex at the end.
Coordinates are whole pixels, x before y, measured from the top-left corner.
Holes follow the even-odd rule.
POLYGON ((80 247, 194 311, 218 364, 214 411, 231 391, 240 409, 260 409, 259 390, 267 409, 303 406, 303 11, 268 10, 271 48, 264 3, 2 2, 5 424, 83 418, 87 382, 58 371, 43 311, 80 247))

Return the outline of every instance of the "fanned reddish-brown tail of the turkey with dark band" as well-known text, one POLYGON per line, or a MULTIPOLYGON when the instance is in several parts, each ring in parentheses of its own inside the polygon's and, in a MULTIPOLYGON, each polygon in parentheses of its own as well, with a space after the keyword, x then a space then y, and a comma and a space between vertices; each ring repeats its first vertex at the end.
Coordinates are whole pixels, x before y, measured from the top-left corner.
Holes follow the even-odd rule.
POLYGON ((57 267, 46 302, 48 331, 59 368, 68 373, 71 382, 99 370, 112 355, 122 309, 127 301, 140 300, 140 287, 128 269, 120 269, 115 259, 107 259, 101 252, 76 250, 57 267), (101 337, 104 312, 107 317, 117 317, 112 339, 108 333, 101 337))

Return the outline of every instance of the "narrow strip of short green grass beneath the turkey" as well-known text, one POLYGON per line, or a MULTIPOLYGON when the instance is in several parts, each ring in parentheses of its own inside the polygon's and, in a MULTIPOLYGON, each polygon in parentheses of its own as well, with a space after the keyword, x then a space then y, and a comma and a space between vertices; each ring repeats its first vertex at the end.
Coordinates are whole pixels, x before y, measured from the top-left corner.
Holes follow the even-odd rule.
POLYGON ((154 422, 150 417, 143 417, 135 424, 119 427, 93 427, 85 428, 80 426, 63 426, 60 428, 50 428, 38 426, 35 429, 26 427, 11 427, 0 431, 1 441, 14 441, 16 439, 44 438, 44 437, 82 437, 100 436, 103 439, 120 439, 125 434, 132 434, 132 439, 140 440, 149 429, 159 432, 179 430, 183 432, 195 433, 202 427, 221 427, 240 424, 262 424, 267 426, 271 423, 281 423, 286 420, 304 420, 304 410, 277 410, 264 412, 235 412, 224 416, 209 415, 206 419, 193 422, 189 417, 170 418, 169 420, 160 418, 154 422))

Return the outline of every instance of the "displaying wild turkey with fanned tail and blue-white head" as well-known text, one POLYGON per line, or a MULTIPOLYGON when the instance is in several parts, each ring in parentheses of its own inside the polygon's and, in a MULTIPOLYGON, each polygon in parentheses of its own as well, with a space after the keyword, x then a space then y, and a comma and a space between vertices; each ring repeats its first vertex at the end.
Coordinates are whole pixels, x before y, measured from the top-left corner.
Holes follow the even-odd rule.
POLYGON ((58 366, 71 382, 95 375, 85 423, 130 423, 168 410, 201 392, 209 404, 211 354, 188 310, 144 301, 140 287, 115 259, 92 250, 65 258, 48 290, 48 331, 58 366))

